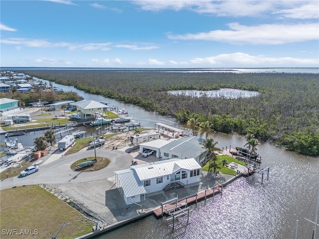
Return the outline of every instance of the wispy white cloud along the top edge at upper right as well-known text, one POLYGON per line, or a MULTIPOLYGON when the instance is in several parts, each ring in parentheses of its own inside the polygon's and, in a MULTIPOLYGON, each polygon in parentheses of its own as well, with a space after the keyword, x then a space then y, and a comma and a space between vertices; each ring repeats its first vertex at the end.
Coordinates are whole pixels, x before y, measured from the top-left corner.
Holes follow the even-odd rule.
POLYGON ((266 13, 283 14, 290 18, 318 18, 318 1, 313 0, 135 0, 146 11, 182 9, 217 16, 260 16, 266 13), (287 6, 291 7, 286 9, 287 6))

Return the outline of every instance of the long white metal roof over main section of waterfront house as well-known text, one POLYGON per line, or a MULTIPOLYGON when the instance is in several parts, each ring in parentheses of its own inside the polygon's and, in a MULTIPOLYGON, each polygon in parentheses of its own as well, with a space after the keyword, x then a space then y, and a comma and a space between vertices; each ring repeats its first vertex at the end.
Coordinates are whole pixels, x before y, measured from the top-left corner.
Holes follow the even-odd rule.
POLYGON ((167 159, 153 163, 146 163, 131 166, 137 173, 141 181, 151 178, 158 178, 165 175, 172 174, 179 169, 195 170, 200 169, 201 166, 194 158, 186 159, 167 159))

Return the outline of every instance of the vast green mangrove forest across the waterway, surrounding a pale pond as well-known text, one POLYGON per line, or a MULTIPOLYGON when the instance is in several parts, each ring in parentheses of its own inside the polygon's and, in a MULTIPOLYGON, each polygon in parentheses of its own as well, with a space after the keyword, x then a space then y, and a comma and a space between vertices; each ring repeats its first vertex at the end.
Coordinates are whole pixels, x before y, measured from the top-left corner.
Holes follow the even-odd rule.
MULTIPOLYGON (((180 73, 157 70, 24 70, 25 74, 72 85, 125 103, 173 116, 181 123, 218 132, 253 134, 302 154, 319 155, 318 74, 180 73), (171 95, 170 90, 257 91, 250 98, 171 95)), ((42 100, 42 99, 41 99, 42 100)))

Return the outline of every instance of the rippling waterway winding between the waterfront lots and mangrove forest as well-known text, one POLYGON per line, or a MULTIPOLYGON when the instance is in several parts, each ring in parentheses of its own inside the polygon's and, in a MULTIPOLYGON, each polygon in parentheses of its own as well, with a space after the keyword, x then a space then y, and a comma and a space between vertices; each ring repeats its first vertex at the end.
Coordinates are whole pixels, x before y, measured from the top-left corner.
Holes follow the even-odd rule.
MULTIPOLYGON (((57 87, 65 91, 75 91, 84 99, 104 101, 110 106, 125 108, 133 119, 144 127, 154 127, 156 122, 174 119, 164 118, 156 113, 84 93, 73 87, 57 87)), ((40 132, 33 132, 37 135, 40 132)), ((31 134, 31 133, 30 133, 31 134)), ((33 135, 32 137, 34 137, 33 135)), ((20 137, 20 136, 19 136, 20 137)), ((220 148, 243 147, 246 143, 238 134, 214 134, 220 148)), ((319 187, 319 157, 300 155, 276 147, 267 142, 257 146, 262 157, 261 167, 270 167, 269 178, 255 174, 240 178, 227 185, 223 195, 192 205, 187 224, 186 217, 172 221, 154 216, 138 220, 112 232, 96 237, 97 239, 290 239, 295 238, 296 220, 299 220, 298 239, 312 238, 316 193, 319 187)), ((319 230, 317 237, 319 239, 319 230)))

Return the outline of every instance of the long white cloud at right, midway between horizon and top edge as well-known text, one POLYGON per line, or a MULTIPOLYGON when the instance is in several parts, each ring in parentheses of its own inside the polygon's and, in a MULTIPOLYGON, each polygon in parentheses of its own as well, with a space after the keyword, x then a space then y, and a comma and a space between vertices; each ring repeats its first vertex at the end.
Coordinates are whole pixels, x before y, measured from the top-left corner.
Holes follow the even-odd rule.
POLYGON ((168 34, 167 36, 173 40, 207 40, 233 44, 249 43, 267 45, 319 39, 319 26, 317 23, 245 26, 234 22, 229 23, 228 26, 231 30, 213 30, 184 35, 168 34))

